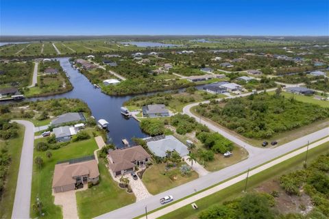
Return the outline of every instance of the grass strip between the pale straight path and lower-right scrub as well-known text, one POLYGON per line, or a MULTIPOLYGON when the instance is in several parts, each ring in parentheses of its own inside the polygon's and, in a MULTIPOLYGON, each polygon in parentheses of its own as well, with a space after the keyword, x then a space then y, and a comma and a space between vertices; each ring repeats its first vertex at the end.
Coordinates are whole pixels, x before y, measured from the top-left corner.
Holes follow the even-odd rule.
MULTIPOLYGON (((311 149, 308 151, 308 162, 311 160, 316 159, 320 154, 328 153, 329 152, 329 142, 321 144, 317 146, 315 149, 311 149)), ((291 159, 288 159, 285 162, 277 164, 263 172, 260 172, 248 179, 248 188, 247 190, 252 190, 256 188, 260 183, 264 181, 272 180, 280 175, 284 175, 287 172, 291 172, 293 170, 301 169, 302 164, 304 162, 306 153, 302 153, 297 155, 291 159)), ((194 210, 191 205, 186 205, 180 209, 172 211, 169 214, 166 214, 160 218, 197 218, 198 214, 212 207, 213 205, 217 205, 223 203, 224 201, 228 201, 230 199, 236 198, 242 194, 242 191, 245 187, 245 181, 241 181, 234 185, 231 185, 228 188, 225 188, 219 192, 211 194, 210 196, 206 196, 195 203, 197 204, 198 209, 194 210)))

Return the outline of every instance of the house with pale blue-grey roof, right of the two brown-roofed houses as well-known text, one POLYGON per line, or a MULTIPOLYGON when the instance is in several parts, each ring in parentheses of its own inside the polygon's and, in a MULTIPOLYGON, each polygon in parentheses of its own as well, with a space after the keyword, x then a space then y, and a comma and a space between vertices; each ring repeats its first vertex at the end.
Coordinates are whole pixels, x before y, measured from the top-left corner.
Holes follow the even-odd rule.
POLYGON ((166 136, 160 140, 151 140, 147 142, 149 150, 158 157, 166 157, 167 151, 171 153, 176 151, 181 157, 188 155, 188 148, 174 136, 166 136))

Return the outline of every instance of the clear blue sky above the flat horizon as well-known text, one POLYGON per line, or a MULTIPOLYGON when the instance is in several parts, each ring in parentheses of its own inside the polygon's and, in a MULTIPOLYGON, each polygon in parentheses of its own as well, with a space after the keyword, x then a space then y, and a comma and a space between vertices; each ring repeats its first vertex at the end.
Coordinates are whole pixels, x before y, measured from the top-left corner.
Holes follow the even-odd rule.
POLYGON ((328 36, 328 0, 0 0, 1 35, 328 36))

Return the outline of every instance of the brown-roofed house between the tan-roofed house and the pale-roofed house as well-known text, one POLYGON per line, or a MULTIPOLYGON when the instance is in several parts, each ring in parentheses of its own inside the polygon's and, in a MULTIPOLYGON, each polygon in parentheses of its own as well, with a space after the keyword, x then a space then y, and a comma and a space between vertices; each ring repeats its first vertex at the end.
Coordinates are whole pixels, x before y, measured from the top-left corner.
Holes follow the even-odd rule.
POLYGON ((117 149, 108 153, 108 166, 114 177, 135 170, 135 166, 143 167, 151 156, 141 145, 126 149, 117 149))

